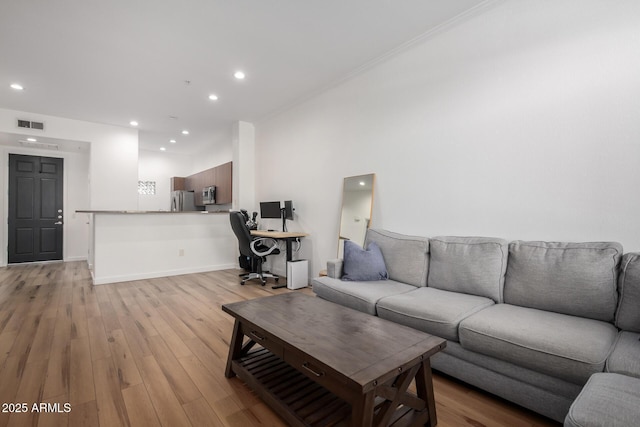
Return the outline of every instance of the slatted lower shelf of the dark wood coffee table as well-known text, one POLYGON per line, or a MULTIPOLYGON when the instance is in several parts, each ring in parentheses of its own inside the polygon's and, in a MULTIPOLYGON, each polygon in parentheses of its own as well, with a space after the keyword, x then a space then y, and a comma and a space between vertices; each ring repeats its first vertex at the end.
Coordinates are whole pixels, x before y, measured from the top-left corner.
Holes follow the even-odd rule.
MULTIPOLYGON (((234 373, 292 426, 348 426, 351 405, 265 348, 233 360, 234 373)), ((380 404, 384 399, 379 399, 380 404)), ((378 403, 378 399, 376 399, 378 403)), ((374 413, 377 413, 377 405, 374 413)), ((400 407, 389 425, 423 424, 424 414, 400 407)))

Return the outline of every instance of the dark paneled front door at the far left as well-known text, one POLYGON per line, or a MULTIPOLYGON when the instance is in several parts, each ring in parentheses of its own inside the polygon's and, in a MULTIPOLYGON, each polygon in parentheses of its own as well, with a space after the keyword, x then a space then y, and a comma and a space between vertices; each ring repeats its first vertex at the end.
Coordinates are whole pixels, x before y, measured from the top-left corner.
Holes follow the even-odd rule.
POLYGON ((63 159, 9 155, 9 263, 62 259, 63 159))

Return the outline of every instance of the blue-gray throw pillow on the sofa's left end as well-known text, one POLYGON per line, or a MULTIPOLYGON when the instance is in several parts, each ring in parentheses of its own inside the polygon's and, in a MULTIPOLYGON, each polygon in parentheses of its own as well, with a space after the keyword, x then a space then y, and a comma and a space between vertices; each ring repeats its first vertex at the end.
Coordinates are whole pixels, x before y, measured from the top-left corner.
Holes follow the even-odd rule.
POLYGON ((375 242, 367 250, 350 240, 344 241, 344 263, 342 280, 367 282, 389 278, 382 252, 375 242))

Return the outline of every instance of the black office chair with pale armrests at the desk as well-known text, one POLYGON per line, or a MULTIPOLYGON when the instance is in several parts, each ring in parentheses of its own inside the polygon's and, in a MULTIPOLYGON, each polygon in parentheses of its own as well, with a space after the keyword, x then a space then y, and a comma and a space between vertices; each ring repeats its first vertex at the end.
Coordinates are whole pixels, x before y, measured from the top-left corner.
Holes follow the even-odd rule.
POLYGON ((253 237, 245 223, 244 215, 241 212, 231 212, 229 214, 231 228, 238 238, 238 248, 240 255, 251 258, 251 272, 242 275, 241 285, 247 280, 260 279, 262 286, 267 284, 267 278, 273 278, 276 282, 280 279, 275 274, 262 271, 262 263, 266 261, 268 255, 277 255, 280 253, 277 242, 268 237, 253 237), (264 243, 271 243, 270 246, 264 243))

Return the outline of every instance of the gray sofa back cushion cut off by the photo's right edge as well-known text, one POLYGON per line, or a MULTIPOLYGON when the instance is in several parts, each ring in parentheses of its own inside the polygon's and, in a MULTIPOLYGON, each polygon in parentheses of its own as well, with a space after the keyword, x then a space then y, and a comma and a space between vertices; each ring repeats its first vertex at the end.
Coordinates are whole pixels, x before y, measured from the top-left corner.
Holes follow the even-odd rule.
POLYGON ((625 331, 640 332, 640 253, 632 252, 622 257, 618 292, 616 326, 625 331))

